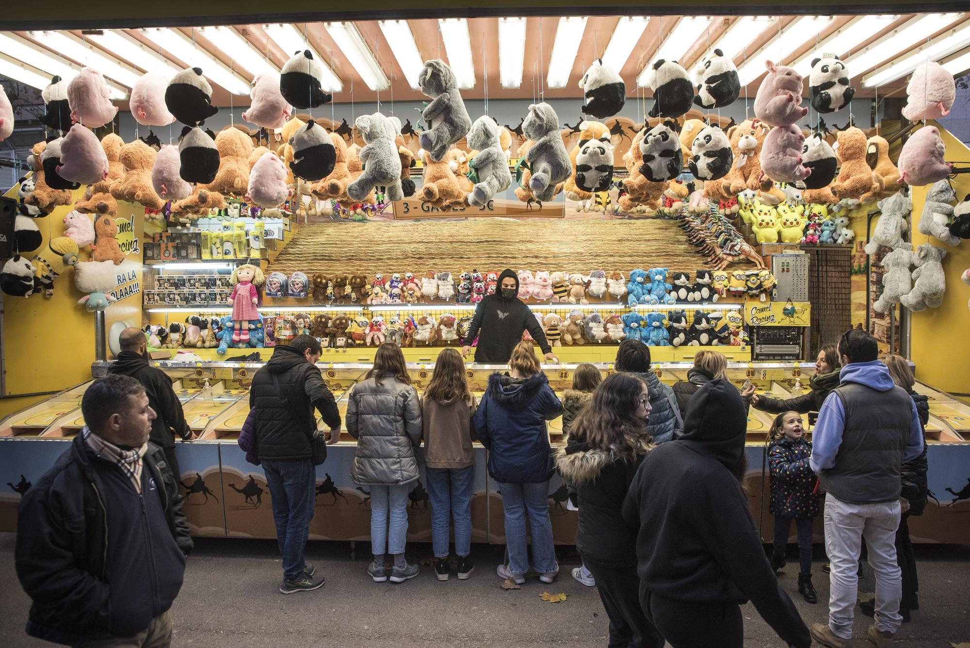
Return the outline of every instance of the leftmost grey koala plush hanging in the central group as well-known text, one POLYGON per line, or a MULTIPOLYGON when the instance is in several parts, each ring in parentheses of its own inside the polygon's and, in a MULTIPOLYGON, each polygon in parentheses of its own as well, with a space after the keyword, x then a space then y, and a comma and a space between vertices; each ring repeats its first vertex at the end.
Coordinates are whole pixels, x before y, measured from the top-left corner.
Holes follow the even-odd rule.
POLYGON ((381 113, 362 114, 354 125, 367 146, 360 152, 364 172, 347 184, 347 195, 352 200, 362 200, 375 186, 386 186, 387 200, 392 203, 404 200, 401 156, 395 143, 401 132, 401 120, 381 113))

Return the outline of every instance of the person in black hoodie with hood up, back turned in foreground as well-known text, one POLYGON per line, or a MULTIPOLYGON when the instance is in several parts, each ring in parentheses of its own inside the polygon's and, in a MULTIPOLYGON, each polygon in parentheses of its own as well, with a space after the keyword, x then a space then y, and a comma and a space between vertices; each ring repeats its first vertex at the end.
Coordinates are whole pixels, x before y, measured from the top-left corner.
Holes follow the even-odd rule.
POLYGON ((684 436, 658 445, 630 484, 623 515, 636 538, 640 604, 673 648, 744 645, 751 599, 788 645, 812 643, 761 548, 741 488, 745 406, 727 379, 691 401, 684 436))

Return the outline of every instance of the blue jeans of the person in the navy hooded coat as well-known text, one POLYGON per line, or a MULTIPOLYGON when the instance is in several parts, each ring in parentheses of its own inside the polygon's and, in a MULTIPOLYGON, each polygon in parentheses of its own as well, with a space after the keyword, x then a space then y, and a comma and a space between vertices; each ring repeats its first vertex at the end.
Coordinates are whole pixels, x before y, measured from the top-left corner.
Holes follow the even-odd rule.
POLYGON ((538 573, 559 571, 556 547, 552 541, 549 521, 549 481, 538 484, 504 484, 501 507, 505 511, 505 546, 508 551, 508 570, 514 574, 529 571, 529 547, 526 544, 526 515, 533 540, 533 568, 538 573))

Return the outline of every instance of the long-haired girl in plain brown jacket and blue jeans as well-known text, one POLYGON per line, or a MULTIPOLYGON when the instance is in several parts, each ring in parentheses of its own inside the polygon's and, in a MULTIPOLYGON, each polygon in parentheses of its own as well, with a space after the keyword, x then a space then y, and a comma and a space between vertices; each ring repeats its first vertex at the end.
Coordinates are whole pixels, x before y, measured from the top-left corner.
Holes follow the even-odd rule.
POLYGON ((422 400, 425 474, 431 499, 431 533, 438 580, 448 580, 448 521, 455 519, 458 578, 471 575, 471 414, 475 399, 469 391, 465 362, 453 348, 437 356, 435 372, 422 400))

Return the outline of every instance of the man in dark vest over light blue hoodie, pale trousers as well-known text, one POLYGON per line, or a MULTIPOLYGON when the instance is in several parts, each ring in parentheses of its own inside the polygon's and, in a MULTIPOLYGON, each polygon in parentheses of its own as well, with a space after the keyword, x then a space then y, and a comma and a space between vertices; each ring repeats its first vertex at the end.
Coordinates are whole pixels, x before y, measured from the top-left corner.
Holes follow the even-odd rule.
POLYGON ((842 648, 852 638, 862 536, 876 574, 876 623, 869 640, 889 646, 902 622, 902 580, 895 535, 900 471, 922 452, 916 404, 878 360, 876 339, 852 329, 839 340, 841 383, 825 399, 812 438, 812 470, 825 496, 825 548, 831 564, 828 623, 812 636, 842 648))

